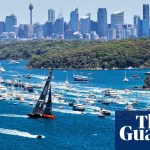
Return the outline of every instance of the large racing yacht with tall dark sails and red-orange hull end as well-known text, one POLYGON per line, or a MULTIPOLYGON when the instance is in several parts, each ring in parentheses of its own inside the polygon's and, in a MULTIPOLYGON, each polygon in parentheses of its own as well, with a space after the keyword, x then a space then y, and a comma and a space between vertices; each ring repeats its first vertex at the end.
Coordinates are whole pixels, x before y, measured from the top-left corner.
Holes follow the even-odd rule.
POLYGON ((33 109, 33 112, 28 114, 30 118, 55 118, 55 116, 52 115, 51 79, 52 69, 50 69, 49 76, 46 80, 45 86, 39 97, 39 100, 37 101, 35 108, 33 109), (46 99, 47 95, 48 99, 46 99))

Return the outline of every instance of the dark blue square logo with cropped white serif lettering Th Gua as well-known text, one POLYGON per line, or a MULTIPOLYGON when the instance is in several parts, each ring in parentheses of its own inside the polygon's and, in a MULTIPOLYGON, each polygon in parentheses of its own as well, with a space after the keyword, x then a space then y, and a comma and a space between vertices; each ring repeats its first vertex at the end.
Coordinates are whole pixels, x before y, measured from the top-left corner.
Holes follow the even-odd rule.
POLYGON ((117 111, 115 116, 116 150, 150 149, 150 112, 117 111))

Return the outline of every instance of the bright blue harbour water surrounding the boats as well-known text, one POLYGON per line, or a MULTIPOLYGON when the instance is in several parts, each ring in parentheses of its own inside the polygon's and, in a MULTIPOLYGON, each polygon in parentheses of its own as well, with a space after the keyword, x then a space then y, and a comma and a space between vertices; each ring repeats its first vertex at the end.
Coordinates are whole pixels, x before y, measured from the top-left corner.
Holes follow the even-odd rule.
MULTIPOLYGON (((18 74, 25 76, 31 74, 32 79, 27 80, 22 77, 23 82, 41 83, 48 75, 48 70, 26 70, 27 62, 20 61, 19 64, 9 64, 8 61, 1 61, 1 65, 6 69, 1 76, 3 79, 18 80, 18 74)), ((122 82, 124 70, 112 71, 65 71, 54 70, 53 72, 53 93, 63 94, 65 100, 86 97, 90 91, 95 91, 98 98, 103 98, 99 89, 113 88, 118 92, 143 85, 144 72, 148 70, 127 70, 128 83, 122 82), (88 83, 74 83, 73 74, 88 75, 91 79, 88 83), (89 74, 90 73, 90 74, 89 74), (92 74, 91 74, 92 73, 92 74), (132 76, 138 74, 140 79, 133 79, 132 76), (63 91, 61 86, 66 80, 66 75, 71 83, 71 87, 76 92, 63 91), (81 94, 76 96, 76 94, 81 94)), ((138 91, 141 99, 137 108, 145 108, 149 103, 146 94, 138 91)), ((137 93, 126 96, 129 99, 135 97, 137 93)), ((95 104, 101 106, 101 104, 95 104)), ((16 100, 0 101, 0 150, 114 150, 115 149, 115 119, 114 111, 124 109, 125 105, 110 104, 103 106, 113 113, 109 117, 98 118, 90 109, 85 114, 78 114, 71 110, 65 103, 53 104, 54 120, 29 119, 26 114, 32 111, 33 106, 28 103, 19 103, 16 100), (18 105, 14 105, 18 103, 18 105), (64 106, 64 110, 59 110, 58 106, 64 106), (43 135, 45 138, 37 139, 34 135, 43 135)))

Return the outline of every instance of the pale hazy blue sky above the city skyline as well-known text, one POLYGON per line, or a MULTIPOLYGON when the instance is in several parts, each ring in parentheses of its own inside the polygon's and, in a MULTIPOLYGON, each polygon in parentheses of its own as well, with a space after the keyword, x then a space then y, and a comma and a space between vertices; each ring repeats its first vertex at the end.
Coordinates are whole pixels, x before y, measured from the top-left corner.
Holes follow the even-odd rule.
POLYGON ((125 22, 132 23, 135 14, 142 17, 142 4, 150 4, 150 0, 1 0, 0 21, 5 20, 6 15, 13 13, 17 16, 18 24, 29 23, 29 3, 34 6, 33 22, 46 22, 49 8, 56 10, 56 17, 60 11, 63 11, 63 16, 68 21, 71 10, 76 7, 79 8, 80 17, 90 12, 91 18, 96 20, 97 9, 106 7, 108 22, 111 13, 124 11, 125 22))

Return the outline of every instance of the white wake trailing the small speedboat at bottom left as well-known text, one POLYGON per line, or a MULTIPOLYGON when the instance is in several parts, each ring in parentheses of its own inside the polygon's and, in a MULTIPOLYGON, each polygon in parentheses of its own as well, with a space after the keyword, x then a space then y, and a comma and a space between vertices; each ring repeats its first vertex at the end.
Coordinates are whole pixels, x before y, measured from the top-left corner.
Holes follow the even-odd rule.
MULTIPOLYGON (((4 129, 4 128, 0 128, 0 134, 15 135, 15 136, 21 136, 21 137, 27 137, 27 138, 37 138, 38 137, 38 135, 32 135, 28 132, 21 132, 18 130, 11 130, 11 129, 4 129)), ((45 138, 45 136, 42 136, 42 138, 45 138)))

